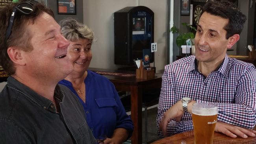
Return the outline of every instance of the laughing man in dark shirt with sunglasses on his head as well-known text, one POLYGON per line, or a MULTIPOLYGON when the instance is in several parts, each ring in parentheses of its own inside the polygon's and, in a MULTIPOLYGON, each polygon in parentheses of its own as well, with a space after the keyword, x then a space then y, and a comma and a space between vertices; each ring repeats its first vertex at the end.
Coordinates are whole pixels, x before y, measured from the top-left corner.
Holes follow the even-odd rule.
POLYGON ((72 71, 53 13, 34 0, 0 8, 0 143, 96 144, 83 107, 65 86, 72 71))

